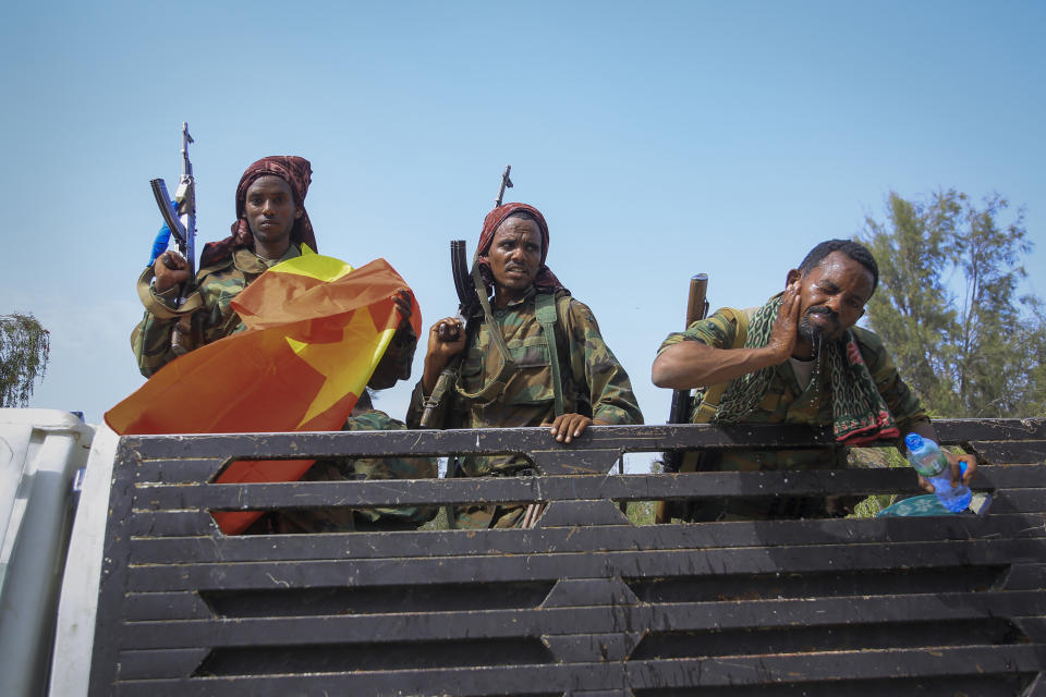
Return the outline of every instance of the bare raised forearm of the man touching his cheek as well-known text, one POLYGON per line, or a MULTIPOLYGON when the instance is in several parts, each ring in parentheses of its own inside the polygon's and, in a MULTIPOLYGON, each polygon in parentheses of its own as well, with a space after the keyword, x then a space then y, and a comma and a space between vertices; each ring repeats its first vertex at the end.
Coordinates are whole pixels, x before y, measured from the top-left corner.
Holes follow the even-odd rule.
POLYGON ((659 388, 688 390, 727 382, 783 360, 770 346, 716 348, 700 341, 682 341, 654 360, 652 378, 659 388))

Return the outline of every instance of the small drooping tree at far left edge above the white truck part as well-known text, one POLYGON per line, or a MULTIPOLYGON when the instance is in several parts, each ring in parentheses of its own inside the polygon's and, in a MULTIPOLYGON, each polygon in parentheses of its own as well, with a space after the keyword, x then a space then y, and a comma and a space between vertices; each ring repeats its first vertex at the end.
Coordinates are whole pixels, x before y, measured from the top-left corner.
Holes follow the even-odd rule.
POLYGON ((33 315, 0 315, 0 406, 28 404, 50 351, 50 334, 33 315))

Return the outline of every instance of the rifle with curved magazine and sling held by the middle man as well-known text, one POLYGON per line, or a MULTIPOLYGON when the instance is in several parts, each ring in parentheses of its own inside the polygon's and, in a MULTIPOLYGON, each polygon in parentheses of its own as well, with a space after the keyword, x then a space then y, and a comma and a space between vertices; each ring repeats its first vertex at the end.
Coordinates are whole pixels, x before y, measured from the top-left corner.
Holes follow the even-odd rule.
MULTIPOLYGON (((504 168, 504 173, 501 174, 501 186, 498 188, 498 197, 494 201, 495 208, 501 205, 501 199, 504 197, 506 187, 512 188, 512 180, 509 179, 509 173, 511 171, 512 166, 509 164, 504 168)), ((489 315, 489 309, 487 308, 488 303, 486 297, 486 286, 483 283, 483 277, 479 274, 479 249, 477 248, 476 253, 472 257, 472 269, 469 268, 465 259, 465 241, 451 240, 450 268, 454 277, 454 290, 458 292, 458 316, 465 321, 465 346, 467 350, 467 338, 475 328, 474 318, 479 315, 481 308, 484 310, 484 316, 489 315)), ((503 382, 507 380, 507 376, 510 376, 511 372, 515 370, 515 364, 512 363, 511 358, 509 357, 508 348, 503 347, 504 340, 501 338, 500 332, 491 332, 491 334, 494 337, 495 345, 501 353, 502 367, 495 380, 487 386, 487 389, 481 390, 476 396, 495 395, 497 384, 500 383, 503 388, 503 382)), ((462 352, 462 354, 464 352, 462 352)), ((462 354, 459 354, 457 357, 454 357, 454 359, 448 363, 447 366, 440 371, 431 395, 428 396, 424 402, 424 411, 422 412, 421 418, 422 428, 433 428, 436 408, 442 403, 442 401, 446 399, 446 395, 452 389, 454 389, 458 369, 461 366, 462 354)))

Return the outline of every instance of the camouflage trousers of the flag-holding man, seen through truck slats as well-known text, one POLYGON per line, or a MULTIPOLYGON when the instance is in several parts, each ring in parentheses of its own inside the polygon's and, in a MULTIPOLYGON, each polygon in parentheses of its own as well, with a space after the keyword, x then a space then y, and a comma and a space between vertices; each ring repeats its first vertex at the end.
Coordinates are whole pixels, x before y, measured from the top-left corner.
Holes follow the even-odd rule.
MULTIPOLYGON (((370 408, 369 399, 360 399, 345 421, 345 431, 405 430, 402 421, 370 408), (363 408, 361 408, 361 406, 363 408)), ((321 460, 309 467, 302 481, 343 479, 431 479, 436 477, 435 457, 340 457, 321 460)), ((266 515, 252 526, 252 533, 350 533, 353 530, 414 529, 436 516, 436 506, 379 509, 285 509, 266 515)))

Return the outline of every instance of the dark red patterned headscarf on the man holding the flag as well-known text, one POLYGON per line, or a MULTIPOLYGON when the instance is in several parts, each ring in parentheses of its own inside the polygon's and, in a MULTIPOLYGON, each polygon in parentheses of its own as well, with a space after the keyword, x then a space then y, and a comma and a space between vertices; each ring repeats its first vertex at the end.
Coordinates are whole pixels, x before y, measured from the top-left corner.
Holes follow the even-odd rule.
POLYGON ((243 217, 243 209, 247 203, 247 189, 263 176, 279 176, 291 187, 294 205, 302 210, 302 217, 294 221, 294 228, 291 230, 291 242, 299 245, 307 244, 309 249, 316 252, 316 235, 313 233, 313 223, 309 222, 308 212, 305 210, 305 194, 308 193, 312 175, 313 168, 308 160, 293 155, 265 157, 248 167, 240 178, 240 185, 236 186, 236 221, 232 223, 232 234, 220 242, 208 243, 204 247, 204 253, 199 256, 200 268, 232 256, 236 247, 254 248, 254 235, 251 234, 247 220, 243 217))

